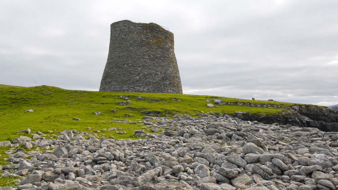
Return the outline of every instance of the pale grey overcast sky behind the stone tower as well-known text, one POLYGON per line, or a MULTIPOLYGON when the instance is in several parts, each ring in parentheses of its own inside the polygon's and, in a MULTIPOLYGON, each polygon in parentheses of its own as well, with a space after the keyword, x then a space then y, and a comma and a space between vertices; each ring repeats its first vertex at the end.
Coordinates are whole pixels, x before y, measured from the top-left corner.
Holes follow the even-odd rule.
POLYGON ((337 0, 0 1, 0 84, 95 90, 110 24, 175 36, 183 93, 338 104, 337 0))

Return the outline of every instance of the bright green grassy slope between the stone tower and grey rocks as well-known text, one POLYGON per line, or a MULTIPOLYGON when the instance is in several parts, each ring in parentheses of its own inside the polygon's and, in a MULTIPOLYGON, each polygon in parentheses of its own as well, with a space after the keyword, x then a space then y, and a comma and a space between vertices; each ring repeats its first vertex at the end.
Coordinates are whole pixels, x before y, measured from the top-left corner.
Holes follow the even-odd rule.
POLYGON ((75 129, 96 133, 99 136, 114 136, 118 139, 134 138, 134 130, 142 127, 143 123, 140 119, 143 115, 171 116, 202 112, 232 114, 235 111, 268 115, 281 113, 283 107, 290 105, 293 104, 189 94, 101 92, 65 90, 45 85, 35 87, 0 85, 0 129, 2 131, 0 141, 18 137, 23 134, 18 131, 27 128, 30 128, 32 133, 40 131, 49 135, 75 129), (214 99, 230 103, 266 104, 269 108, 241 105, 208 108, 207 104, 213 103, 214 99), (272 108, 274 105, 280 107, 272 108), (28 109, 34 112, 25 112, 28 109), (97 116, 94 114, 96 111, 102 114, 97 116), (73 117, 81 120, 73 120, 73 117), (137 125, 130 124, 131 121, 136 121, 137 125), (125 131, 126 134, 107 131, 111 127, 125 131))

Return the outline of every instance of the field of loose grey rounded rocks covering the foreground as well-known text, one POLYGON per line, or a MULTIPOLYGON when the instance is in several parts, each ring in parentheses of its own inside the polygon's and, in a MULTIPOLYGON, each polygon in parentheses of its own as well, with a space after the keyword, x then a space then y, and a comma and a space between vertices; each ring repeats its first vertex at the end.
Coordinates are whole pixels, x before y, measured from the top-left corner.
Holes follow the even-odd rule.
POLYGON ((144 116, 141 127, 163 132, 138 140, 65 130, 2 141, 1 176, 21 180, 0 190, 337 189, 336 132, 199 115, 144 116))

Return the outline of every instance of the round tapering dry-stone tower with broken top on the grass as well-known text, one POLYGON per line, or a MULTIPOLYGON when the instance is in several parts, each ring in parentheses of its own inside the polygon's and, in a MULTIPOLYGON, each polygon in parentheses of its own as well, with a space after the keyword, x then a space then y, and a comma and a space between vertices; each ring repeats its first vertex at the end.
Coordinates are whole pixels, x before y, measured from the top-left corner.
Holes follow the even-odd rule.
POLYGON ((111 24, 100 91, 182 93, 174 34, 155 23, 111 24))

